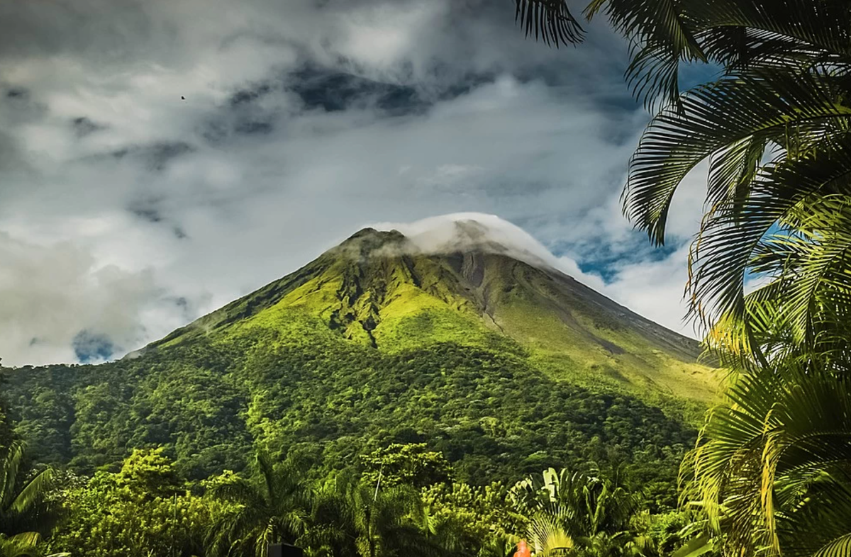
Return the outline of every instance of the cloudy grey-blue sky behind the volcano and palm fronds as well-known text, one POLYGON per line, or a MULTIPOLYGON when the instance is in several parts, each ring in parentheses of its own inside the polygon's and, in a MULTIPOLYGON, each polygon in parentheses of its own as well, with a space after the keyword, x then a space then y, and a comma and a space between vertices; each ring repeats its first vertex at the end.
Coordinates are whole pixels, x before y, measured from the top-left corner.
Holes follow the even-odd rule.
POLYGON ((690 334, 700 176, 664 250, 620 216, 648 114, 590 31, 524 40, 511 0, 0 3, 3 363, 119 357, 363 226, 461 211, 690 334))

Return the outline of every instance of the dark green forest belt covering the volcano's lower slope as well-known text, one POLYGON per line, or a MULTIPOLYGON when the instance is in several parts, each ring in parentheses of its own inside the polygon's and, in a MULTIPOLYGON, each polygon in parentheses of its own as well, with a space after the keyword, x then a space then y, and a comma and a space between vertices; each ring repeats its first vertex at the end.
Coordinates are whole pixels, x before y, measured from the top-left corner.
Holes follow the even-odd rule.
POLYGON ((677 505, 677 466, 697 434, 676 412, 552 380, 505 350, 446 343, 386 355, 310 338, 197 341, 73 373, 20 370, 13 414, 37 462, 77 474, 121 463, 128 446, 164 446, 181 474, 203 480, 243 471, 258 440, 274 458, 305 461, 311 478, 353 467, 372 480, 383 466, 385 481, 417 486, 442 480, 448 464, 455 480, 481 485, 625 463, 627 483, 653 484, 660 509, 677 505))

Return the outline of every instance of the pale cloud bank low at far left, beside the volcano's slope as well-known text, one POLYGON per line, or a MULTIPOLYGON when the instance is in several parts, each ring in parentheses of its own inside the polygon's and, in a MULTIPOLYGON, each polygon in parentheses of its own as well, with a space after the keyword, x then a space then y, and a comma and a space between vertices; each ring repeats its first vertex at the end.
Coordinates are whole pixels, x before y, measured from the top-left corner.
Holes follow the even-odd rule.
POLYGON ((151 270, 99 265, 69 243, 41 246, 0 233, 0 259, 0 356, 6 365, 77 361, 75 348, 85 351, 81 338, 103 336, 110 344, 105 350, 122 355, 186 319, 151 270), (151 312, 156 319, 146 323, 151 312))

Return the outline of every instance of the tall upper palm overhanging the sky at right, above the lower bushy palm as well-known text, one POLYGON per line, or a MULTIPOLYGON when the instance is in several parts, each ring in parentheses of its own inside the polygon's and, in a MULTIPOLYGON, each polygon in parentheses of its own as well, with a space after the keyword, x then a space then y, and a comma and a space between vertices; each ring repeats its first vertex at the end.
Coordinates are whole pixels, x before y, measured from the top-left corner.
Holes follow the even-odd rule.
MULTIPOLYGON (((517 0, 527 32, 581 38, 563 0, 517 0), (568 31, 557 32, 564 26, 568 31)), ((690 258, 692 315, 723 355, 762 366, 829 354, 851 315, 851 4, 845 0, 592 0, 633 44, 627 78, 660 106, 632 158, 625 212, 665 242, 671 199, 710 162, 690 258), (683 62, 722 71, 680 92, 683 62), (770 283, 745 294, 751 274, 770 283), (780 331, 776 330, 780 327, 780 331)))

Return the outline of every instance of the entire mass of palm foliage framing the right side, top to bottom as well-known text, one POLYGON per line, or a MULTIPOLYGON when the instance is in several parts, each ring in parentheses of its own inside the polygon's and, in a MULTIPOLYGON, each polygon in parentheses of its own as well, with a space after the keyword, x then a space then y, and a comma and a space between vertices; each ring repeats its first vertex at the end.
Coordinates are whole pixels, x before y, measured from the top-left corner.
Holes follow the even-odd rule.
MULTIPOLYGON (((527 24, 568 17, 518 0, 533 4, 527 24)), ((851 3, 593 0, 585 13, 603 10, 634 45, 635 93, 660 106, 625 213, 664 243, 672 197, 709 162, 687 293, 734 374, 685 467, 690 493, 730 553, 848 554, 851 3), (695 60, 721 73, 681 93, 695 60)))

